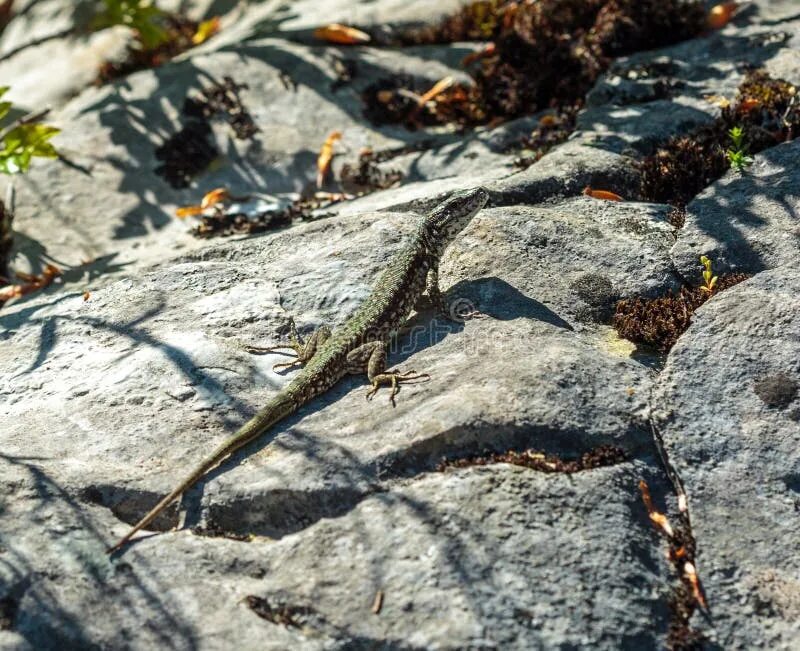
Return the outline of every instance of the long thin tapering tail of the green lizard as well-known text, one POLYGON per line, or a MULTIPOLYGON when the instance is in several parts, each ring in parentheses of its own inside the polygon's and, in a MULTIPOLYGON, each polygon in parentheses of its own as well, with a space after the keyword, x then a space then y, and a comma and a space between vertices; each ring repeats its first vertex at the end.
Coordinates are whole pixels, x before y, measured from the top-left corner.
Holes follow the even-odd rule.
POLYGON ((255 416, 242 425, 239 430, 230 438, 225 440, 214 452, 212 452, 206 459, 200 463, 192 473, 186 477, 178 486, 169 493, 164 499, 156 504, 150 512, 145 515, 133 528, 125 534, 113 546, 106 550, 107 554, 113 554, 115 551, 125 545, 137 531, 143 529, 150 524, 155 518, 172 502, 178 499, 183 493, 194 486, 209 470, 220 463, 223 459, 233 454, 239 448, 247 445, 253 439, 263 434, 267 429, 275 425, 277 422, 286 418, 289 414, 297 409, 297 404, 285 397, 276 396, 270 400, 267 405, 261 409, 255 416))

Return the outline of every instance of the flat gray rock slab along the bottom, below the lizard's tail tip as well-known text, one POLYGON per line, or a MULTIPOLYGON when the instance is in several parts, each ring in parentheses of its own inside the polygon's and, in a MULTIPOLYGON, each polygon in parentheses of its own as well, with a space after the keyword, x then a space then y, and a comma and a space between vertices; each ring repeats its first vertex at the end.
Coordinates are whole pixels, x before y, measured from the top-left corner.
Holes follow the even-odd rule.
POLYGON ((431 473, 277 542, 182 531, 111 560, 107 510, 0 468, 3 648, 637 649, 668 625, 641 462, 431 473))

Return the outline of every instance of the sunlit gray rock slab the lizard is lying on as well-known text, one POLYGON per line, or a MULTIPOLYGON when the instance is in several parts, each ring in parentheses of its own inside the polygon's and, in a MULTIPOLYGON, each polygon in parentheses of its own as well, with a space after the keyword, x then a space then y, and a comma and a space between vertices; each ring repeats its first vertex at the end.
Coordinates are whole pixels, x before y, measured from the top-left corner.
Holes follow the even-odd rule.
MULTIPOLYGON (((281 535, 385 476, 485 447, 647 449, 637 414, 651 372, 601 324, 615 297, 674 286, 663 212, 585 197, 484 211, 442 274, 454 285, 449 300, 487 317, 454 324, 424 310, 394 349, 395 363, 432 380, 406 385, 396 409, 384 393, 367 403, 353 390, 363 380, 346 381, 321 400, 325 408, 301 411, 264 453, 212 482, 212 520, 281 535), (261 506, 242 520, 242 503, 261 506)), ((42 432, 42 454, 70 459, 62 481, 136 519, 176 468, 199 460, 287 381, 271 370, 280 356, 252 356, 243 345, 279 341, 289 316, 306 332, 341 323, 417 218, 331 218, 198 252, 88 301, 40 297, 9 312, 0 319, 6 449, 31 452, 30 431, 42 432)), ((175 522, 173 514, 160 526, 175 522)))

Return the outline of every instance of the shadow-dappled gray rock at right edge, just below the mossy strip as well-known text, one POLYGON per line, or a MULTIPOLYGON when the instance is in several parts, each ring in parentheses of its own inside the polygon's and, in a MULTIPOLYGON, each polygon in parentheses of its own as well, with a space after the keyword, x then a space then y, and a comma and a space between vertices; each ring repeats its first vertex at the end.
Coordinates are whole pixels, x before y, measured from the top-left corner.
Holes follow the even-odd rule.
POLYGON ((687 207, 672 258, 688 281, 702 282, 698 258, 715 273, 755 273, 800 259, 800 142, 772 147, 746 172, 728 172, 687 207))

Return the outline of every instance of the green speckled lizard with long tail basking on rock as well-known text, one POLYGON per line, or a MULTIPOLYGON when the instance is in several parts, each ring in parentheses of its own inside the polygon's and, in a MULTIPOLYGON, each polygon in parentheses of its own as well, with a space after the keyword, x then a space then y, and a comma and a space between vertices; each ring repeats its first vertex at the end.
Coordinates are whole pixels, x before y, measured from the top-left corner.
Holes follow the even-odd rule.
POLYGON ((399 383, 427 377, 414 371, 386 370, 387 345, 408 319, 423 293, 427 292, 436 309, 449 317, 439 289, 439 260, 447 246, 486 205, 488 192, 481 187, 452 193, 427 213, 417 225, 410 241, 395 255, 379 275, 367 299, 341 326, 331 332, 321 326, 303 341, 291 321, 287 346, 248 347, 251 352, 290 349, 296 359, 274 368, 303 365, 302 370, 250 420, 223 441, 194 467, 169 494, 158 502, 107 552, 121 549, 139 530, 150 524, 167 506, 194 486, 228 456, 259 438, 277 423, 313 398, 327 391, 348 374, 366 373, 372 385, 371 399, 381 385, 391 386, 390 401, 399 383))

